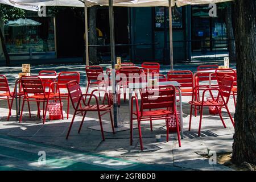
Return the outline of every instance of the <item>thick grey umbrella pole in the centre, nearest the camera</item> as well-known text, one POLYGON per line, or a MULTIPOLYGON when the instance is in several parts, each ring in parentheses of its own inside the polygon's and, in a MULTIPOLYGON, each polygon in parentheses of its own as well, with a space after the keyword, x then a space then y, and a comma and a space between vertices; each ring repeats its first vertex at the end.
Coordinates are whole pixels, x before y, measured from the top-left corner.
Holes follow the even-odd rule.
POLYGON ((110 49, 112 61, 112 93, 113 93, 113 110, 114 110, 114 127, 117 126, 117 97, 115 90, 115 37, 114 37, 114 10, 113 0, 109 0, 109 29, 110 29, 110 49))

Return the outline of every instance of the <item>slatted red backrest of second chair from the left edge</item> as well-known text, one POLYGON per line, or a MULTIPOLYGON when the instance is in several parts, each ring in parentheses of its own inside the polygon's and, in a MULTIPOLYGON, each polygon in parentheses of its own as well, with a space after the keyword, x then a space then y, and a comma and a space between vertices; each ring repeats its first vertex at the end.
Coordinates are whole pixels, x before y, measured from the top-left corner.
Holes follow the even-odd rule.
POLYGON ((38 76, 22 76, 20 82, 25 96, 28 94, 43 94, 46 97, 42 79, 38 76))

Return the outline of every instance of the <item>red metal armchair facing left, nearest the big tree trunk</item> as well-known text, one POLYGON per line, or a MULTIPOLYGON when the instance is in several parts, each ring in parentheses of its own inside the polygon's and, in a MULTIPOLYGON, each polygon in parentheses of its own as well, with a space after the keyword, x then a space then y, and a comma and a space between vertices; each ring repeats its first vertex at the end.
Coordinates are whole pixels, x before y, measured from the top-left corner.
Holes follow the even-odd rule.
MULTIPOLYGON (((229 118, 230 118, 230 120, 231 120, 231 122, 234 126, 233 118, 232 118, 232 116, 229 112, 229 109, 228 109, 228 102, 229 102, 230 93, 231 93, 231 90, 232 90, 232 87, 233 87, 233 83, 234 83, 233 77, 224 76, 222 78, 222 82, 219 83, 219 88, 209 88, 209 86, 207 86, 207 85, 204 86, 205 90, 203 92, 203 96, 202 96, 201 101, 196 100, 196 99, 194 100, 194 95, 192 96, 192 101, 188 102, 189 104, 191 104, 188 131, 191 130, 191 117, 192 117, 193 106, 195 106, 194 109, 197 109, 197 107, 199 107, 198 110, 200 110, 200 121, 199 121, 199 131, 198 131, 198 136, 199 137, 200 137, 200 132, 201 132, 201 123, 202 123, 203 107, 204 106, 215 106, 215 108, 217 110, 217 113, 220 115, 221 122, 222 122, 222 124, 225 128, 226 128, 226 125, 225 125, 225 122, 222 118, 221 110, 219 109, 219 107, 222 107, 222 108, 226 109, 228 114, 229 114, 229 118), (218 95, 217 95, 216 98, 214 98, 214 96, 212 94, 213 90, 218 92, 218 95), (207 92, 209 92, 211 100, 205 101, 205 93, 207 93, 207 92), (224 99, 224 98, 226 98, 226 99, 224 99), (222 101, 222 102, 220 102, 220 101, 222 101)), ((196 92, 196 87, 193 89, 193 92, 196 92)), ((203 86, 201 86, 201 88, 203 88, 203 86)))

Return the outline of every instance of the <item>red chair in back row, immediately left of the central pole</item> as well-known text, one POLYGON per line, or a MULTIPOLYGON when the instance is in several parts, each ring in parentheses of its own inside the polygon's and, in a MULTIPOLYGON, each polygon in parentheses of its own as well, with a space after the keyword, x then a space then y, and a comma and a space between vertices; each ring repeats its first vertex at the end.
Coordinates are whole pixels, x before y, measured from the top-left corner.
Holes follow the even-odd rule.
MULTIPOLYGON (((110 69, 107 69, 107 71, 110 71, 110 69)), ((86 66, 85 67, 86 77, 87 77, 87 88, 86 93, 88 93, 88 90, 90 87, 97 87, 100 89, 100 86, 105 87, 105 89, 108 89, 109 84, 105 81, 103 69, 100 66, 86 66), (101 80, 98 80, 101 79, 101 80)), ((110 73, 109 75, 110 76, 110 73)), ((109 82, 110 83, 110 82, 109 82)), ((99 100, 101 100, 101 94, 98 93, 99 100)))

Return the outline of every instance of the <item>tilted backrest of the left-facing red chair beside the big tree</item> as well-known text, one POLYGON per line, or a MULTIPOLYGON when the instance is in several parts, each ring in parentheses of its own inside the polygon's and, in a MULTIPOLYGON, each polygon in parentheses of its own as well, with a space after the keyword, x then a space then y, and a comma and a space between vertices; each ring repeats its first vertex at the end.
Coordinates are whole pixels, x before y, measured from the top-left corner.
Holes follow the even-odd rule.
POLYGON ((218 87, 223 97, 226 98, 226 103, 229 101, 230 93, 234 84, 234 77, 225 75, 222 77, 221 82, 218 82, 218 87))

